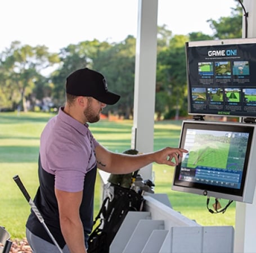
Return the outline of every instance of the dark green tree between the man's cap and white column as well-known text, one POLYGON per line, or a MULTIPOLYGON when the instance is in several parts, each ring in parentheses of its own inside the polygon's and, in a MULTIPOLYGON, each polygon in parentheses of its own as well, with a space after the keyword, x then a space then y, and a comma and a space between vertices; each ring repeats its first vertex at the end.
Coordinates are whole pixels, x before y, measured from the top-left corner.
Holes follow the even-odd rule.
POLYGON ((132 35, 120 43, 100 51, 93 67, 105 75, 109 89, 120 94, 121 100, 106 110, 117 111, 128 119, 133 114, 134 66, 136 39, 132 35))

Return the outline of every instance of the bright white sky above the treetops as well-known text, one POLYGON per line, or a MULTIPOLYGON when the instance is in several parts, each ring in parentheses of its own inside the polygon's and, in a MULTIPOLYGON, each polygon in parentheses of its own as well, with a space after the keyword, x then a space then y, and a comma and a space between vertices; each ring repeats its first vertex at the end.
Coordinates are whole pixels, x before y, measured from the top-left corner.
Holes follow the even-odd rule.
MULTIPOLYGON (((235 0, 158 0, 158 25, 173 34, 212 35, 206 20, 230 16, 235 7, 235 0)), ((59 52, 84 40, 137 35, 138 0, 1 0, 0 10, 0 52, 15 40, 59 52)))

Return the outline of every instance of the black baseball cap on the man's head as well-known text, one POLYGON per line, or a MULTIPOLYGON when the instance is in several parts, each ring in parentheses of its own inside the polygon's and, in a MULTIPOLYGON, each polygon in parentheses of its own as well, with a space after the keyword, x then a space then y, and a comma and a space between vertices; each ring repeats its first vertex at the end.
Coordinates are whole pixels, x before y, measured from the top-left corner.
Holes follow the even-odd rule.
POLYGON ((93 97, 106 105, 114 105, 120 98, 118 94, 107 91, 104 75, 87 67, 74 71, 66 78, 66 93, 93 97))

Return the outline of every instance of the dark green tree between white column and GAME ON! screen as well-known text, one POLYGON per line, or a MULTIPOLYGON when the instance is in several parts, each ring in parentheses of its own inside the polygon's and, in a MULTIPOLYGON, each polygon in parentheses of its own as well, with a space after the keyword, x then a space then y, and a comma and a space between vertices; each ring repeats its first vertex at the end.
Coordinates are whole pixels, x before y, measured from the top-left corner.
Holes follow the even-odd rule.
POLYGON ((158 53, 156 105, 158 119, 178 118, 187 111, 185 35, 174 35, 169 47, 158 53))

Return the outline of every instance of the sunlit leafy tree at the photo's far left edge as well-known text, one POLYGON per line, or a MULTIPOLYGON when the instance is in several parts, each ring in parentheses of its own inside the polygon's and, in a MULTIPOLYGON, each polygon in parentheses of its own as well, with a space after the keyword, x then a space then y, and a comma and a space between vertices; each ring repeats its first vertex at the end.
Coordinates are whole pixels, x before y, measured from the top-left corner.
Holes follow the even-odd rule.
POLYGON ((11 47, 1 54, 1 71, 3 79, 1 89, 10 92, 12 106, 18 104, 21 110, 27 111, 26 97, 33 93, 35 82, 41 76, 41 71, 59 61, 57 54, 48 52, 45 46, 32 47, 12 42, 11 47))

